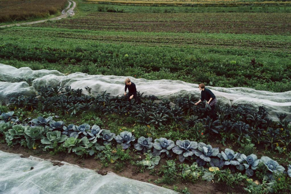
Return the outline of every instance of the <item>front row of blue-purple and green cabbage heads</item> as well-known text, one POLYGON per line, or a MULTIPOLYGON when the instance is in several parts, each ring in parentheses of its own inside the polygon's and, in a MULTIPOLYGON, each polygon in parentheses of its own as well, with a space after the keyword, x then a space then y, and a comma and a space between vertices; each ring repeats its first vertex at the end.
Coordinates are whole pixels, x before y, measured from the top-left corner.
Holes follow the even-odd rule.
MULTIPOLYGON (((228 148, 220 152, 218 147, 212 148, 211 145, 202 142, 178 140, 175 144, 166 138, 155 139, 152 142, 151 137, 143 136, 136 140, 129 131, 115 135, 110 130, 100 129, 97 125, 91 127, 88 124, 80 126, 71 124, 66 127, 63 121, 56 122, 52 117, 40 116, 21 125, 17 124, 19 121, 13 116, 13 112, 1 113, 0 119, 0 133, 5 135, 9 146, 21 144, 29 148, 43 147, 44 150, 48 150, 58 145, 66 147, 69 153, 74 152, 77 155, 86 153, 92 156, 104 150, 106 146, 120 144, 122 149, 133 146, 137 151, 150 154, 149 160, 143 161, 147 169, 153 169, 162 155, 167 158, 177 156, 180 162, 195 161, 198 166, 209 163, 213 167, 229 168, 233 172, 244 171, 249 177, 254 175, 259 162, 263 162, 269 170, 266 177, 270 180, 273 174, 285 171, 283 166, 267 156, 258 159, 255 154, 246 156, 228 148)), ((285 173, 291 177, 291 165, 285 173)))

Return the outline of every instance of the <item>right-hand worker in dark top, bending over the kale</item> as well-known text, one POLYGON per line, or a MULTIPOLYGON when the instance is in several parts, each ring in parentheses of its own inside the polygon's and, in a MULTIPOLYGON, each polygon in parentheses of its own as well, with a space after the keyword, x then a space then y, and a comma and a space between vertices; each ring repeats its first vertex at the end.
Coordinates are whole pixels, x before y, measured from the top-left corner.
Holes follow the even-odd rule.
POLYGON ((206 100, 211 108, 210 111, 210 118, 216 120, 216 113, 215 113, 215 105, 217 103, 217 99, 215 95, 210 91, 210 89, 205 88, 204 83, 199 84, 199 89, 201 90, 201 98, 195 105, 199 104, 201 101, 206 100))

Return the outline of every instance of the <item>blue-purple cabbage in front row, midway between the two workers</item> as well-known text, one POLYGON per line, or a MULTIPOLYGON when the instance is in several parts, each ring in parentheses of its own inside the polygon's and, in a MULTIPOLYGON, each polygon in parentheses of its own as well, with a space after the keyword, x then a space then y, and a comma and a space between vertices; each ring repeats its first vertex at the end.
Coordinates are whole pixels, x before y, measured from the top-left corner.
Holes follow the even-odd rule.
POLYGON ((161 153, 165 153, 168 158, 171 157, 170 150, 175 146, 175 143, 172 140, 167 140, 166 138, 161 137, 160 139, 155 139, 154 142, 154 156, 160 156, 161 153))

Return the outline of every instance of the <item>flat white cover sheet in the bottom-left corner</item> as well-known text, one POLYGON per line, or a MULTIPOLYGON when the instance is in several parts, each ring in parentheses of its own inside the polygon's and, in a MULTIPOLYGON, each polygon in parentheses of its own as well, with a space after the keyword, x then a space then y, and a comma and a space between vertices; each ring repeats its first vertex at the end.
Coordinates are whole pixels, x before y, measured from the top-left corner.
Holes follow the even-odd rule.
MULTIPOLYGON (((65 162, 63 162, 65 163, 65 162)), ((177 194, 150 183, 0 151, 0 194, 177 194)))

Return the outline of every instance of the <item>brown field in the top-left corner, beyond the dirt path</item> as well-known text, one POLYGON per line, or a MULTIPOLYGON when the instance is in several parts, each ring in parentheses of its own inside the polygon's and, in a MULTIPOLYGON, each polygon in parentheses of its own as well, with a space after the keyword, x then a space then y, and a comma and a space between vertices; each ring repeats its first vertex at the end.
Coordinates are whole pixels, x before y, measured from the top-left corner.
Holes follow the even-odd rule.
POLYGON ((60 13, 67 0, 0 0, 0 22, 48 17, 60 13))

